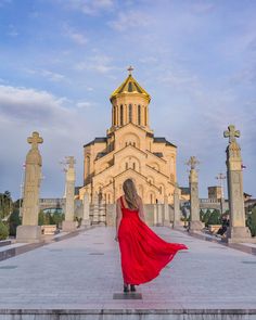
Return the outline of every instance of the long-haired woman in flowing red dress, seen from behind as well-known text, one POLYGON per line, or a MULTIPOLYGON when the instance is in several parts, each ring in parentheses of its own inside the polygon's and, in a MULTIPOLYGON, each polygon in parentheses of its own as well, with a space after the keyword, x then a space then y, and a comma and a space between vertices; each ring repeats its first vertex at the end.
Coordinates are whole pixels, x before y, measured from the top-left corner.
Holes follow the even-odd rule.
POLYGON ((143 204, 131 179, 123 190, 116 204, 115 240, 120 248, 124 292, 133 292, 135 285, 156 278, 179 249, 188 247, 164 241, 145 225, 143 204))

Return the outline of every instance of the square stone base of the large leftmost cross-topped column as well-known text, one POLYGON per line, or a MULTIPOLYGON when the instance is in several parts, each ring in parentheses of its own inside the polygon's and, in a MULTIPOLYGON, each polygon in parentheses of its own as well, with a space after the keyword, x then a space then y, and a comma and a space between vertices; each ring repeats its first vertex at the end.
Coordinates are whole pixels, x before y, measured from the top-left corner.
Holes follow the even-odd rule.
POLYGON ((37 243, 42 240, 40 226, 18 226, 16 241, 25 243, 37 243))

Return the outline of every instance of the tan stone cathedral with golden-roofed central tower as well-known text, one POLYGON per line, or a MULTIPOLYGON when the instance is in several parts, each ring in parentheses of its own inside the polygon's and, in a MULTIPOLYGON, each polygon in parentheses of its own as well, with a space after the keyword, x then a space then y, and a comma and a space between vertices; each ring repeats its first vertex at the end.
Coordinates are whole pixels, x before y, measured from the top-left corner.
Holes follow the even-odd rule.
POLYGON ((150 127, 150 94, 128 68, 125 81, 111 94, 112 125, 106 137, 84 145, 84 187, 90 202, 101 196, 113 204, 131 178, 144 204, 174 203, 177 146, 155 137, 150 127))

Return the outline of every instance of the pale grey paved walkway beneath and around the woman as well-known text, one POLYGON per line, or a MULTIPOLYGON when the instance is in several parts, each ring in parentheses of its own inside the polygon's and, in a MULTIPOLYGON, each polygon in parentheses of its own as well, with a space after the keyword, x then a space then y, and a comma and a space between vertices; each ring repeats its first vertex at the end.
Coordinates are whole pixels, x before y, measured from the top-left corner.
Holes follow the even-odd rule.
POLYGON ((256 256, 153 228, 189 251, 150 283, 142 299, 113 299, 123 280, 114 228, 99 227, 0 261, 0 309, 255 309, 256 256))

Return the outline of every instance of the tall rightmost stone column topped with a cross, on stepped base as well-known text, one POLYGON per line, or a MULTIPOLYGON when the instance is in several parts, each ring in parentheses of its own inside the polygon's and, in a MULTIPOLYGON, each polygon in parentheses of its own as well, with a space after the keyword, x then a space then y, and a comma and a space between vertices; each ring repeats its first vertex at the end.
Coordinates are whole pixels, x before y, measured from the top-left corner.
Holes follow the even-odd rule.
POLYGON ((252 239, 248 228, 245 227, 242 157, 241 148, 235 139, 240 137, 240 131, 235 130, 233 125, 230 125, 223 136, 229 138, 229 145, 226 149, 230 210, 230 227, 227 240, 230 243, 256 242, 256 239, 252 239))

